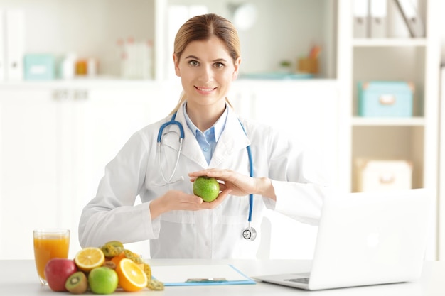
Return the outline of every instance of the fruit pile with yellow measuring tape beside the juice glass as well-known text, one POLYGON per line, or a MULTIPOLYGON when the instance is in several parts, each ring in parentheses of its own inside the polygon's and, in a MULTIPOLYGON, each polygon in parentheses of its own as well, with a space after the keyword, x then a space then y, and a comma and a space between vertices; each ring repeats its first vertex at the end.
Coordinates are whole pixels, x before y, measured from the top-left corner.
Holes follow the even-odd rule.
POLYGON ((151 278, 150 265, 119 241, 82 248, 74 260, 53 258, 45 266, 45 278, 51 290, 74 294, 88 289, 95 294, 111 294, 117 287, 128 292, 144 287, 163 290, 163 283, 151 278))

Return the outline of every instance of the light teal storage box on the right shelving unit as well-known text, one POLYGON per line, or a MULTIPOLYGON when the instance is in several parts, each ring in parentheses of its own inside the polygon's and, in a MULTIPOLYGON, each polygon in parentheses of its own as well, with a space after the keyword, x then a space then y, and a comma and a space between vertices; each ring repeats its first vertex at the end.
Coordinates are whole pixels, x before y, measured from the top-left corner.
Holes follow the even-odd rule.
POLYGON ((414 84, 404 81, 358 82, 358 115, 411 117, 414 84))

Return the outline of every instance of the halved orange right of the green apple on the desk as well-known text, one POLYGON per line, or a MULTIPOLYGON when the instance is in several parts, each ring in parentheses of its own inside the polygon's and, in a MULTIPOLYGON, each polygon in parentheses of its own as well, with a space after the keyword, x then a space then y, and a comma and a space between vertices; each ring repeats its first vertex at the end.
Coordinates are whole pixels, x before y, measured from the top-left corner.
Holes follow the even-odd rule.
POLYGON ((135 292, 146 287, 148 280, 144 270, 129 258, 122 258, 116 267, 119 285, 127 292, 135 292))

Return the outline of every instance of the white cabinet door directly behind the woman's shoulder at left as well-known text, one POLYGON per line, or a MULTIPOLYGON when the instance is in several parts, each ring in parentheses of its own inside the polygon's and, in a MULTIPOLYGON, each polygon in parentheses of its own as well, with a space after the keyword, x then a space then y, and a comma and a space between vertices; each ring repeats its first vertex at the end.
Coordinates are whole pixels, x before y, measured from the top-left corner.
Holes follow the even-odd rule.
MULTIPOLYGON (((97 192, 104 168, 133 133, 159 119, 151 102, 157 99, 149 89, 93 88, 88 99, 75 104, 75 219, 97 192)), ((173 106, 171 106, 173 109, 173 106)), ((167 113, 163 114, 166 116, 167 113)), ((137 201, 140 202, 139 199, 137 201)), ((77 239, 77 229, 75 229, 77 239)), ((130 247, 128 247, 130 248, 130 247)), ((149 242, 136 243, 132 251, 149 257, 149 242)))

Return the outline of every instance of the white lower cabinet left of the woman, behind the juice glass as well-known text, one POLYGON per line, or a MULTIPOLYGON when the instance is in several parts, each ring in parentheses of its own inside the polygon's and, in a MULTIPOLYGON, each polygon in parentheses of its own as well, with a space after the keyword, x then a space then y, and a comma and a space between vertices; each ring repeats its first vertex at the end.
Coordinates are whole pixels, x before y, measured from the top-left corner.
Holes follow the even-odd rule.
POLYGON ((33 258, 32 230, 50 227, 71 230, 73 257, 82 208, 104 166, 132 133, 166 116, 179 94, 153 82, 37 85, 0 89, 3 259, 33 258))

